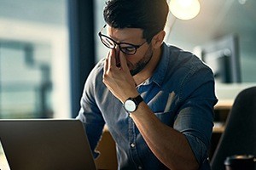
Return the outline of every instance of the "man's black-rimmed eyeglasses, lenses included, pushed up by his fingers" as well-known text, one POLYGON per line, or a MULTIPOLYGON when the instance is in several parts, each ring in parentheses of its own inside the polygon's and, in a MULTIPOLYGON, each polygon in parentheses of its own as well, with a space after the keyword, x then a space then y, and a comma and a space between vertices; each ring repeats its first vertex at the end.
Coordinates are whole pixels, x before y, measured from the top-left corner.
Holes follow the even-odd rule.
MULTIPOLYGON (((107 25, 102 27, 102 30, 106 27, 107 25)), ((116 42, 114 41, 111 37, 108 37, 104 34, 102 34, 102 30, 99 32, 99 37, 101 38, 102 43, 107 47, 107 48, 111 48, 114 49, 116 48, 116 46, 119 46, 119 49, 127 55, 133 55, 136 54, 137 52, 137 48, 140 48, 143 46, 143 44, 145 42, 143 42, 141 45, 134 45, 131 43, 127 43, 127 42, 116 42)))

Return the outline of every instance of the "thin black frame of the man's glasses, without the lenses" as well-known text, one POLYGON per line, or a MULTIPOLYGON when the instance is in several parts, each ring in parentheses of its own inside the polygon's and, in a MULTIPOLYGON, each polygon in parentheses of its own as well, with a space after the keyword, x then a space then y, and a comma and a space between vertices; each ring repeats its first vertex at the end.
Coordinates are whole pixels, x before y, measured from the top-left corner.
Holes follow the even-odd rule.
MULTIPOLYGON (((102 27, 102 30, 103 30, 106 26, 107 26, 107 25, 103 26, 103 27, 102 27)), ((124 53, 124 54, 127 54, 127 55, 134 55, 134 54, 136 54, 136 53, 137 53, 137 48, 142 47, 143 44, 147 42, 147 41, 145 41, 145 42, 143 42, 143 43, 140 44, 140 45, 134 45, 134 44, 128 43, 128 42, 116 42, 116 41, 114 41, 111 37, 108 37, 108 36, 102 34, 102 30, 99 31, 98 36, 100 37, 100 39, 101 39, 103 45, 106 46, 107 48, 110 48, 110 49, 114 49, 114 48, 116 48, 116 46, 118 46, 119 49, 120 49, 120 51, 121 51, 122 53, 124 53), (105 43, 103 42, 103 40, 102 40, 102 37, 106 37, 106 38, 110 39, 111 41, 113 41, 113 44, 114 44, 113 48, 111 48, 111 47, 109 47, 107 44, 105 44, 105 43), (125 51, 123 51, 124 49, 121 47, 122 44, 129 45, 129 46, 135 48, 134 52, 131 53, 131 54, 126 53, 125 51)))

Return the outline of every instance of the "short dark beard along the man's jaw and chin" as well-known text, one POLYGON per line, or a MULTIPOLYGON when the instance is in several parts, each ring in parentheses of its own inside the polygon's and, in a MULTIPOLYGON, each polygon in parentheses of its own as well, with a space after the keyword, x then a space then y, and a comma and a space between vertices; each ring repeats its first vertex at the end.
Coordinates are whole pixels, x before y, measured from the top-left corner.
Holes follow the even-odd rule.
POLYGON ((151 44, 147 50, 147 52, 144 54, 143 59, 139 60, 136 64, 131 65, 131 76, 137 75, 140 71, 143 71, 143 69, 148 65, 148 62, 152 59, 153 56, 153 51, 151 44))

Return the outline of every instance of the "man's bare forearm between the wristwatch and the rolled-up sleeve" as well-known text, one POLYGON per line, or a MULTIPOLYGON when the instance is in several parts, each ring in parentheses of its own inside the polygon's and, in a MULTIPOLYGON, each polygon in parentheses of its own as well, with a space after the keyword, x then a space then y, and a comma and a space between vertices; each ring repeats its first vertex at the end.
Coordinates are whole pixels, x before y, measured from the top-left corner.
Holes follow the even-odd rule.
POLYGON ((168 127, 154 116, 144 102, 131 113, 148 147, 170 169, 197 169, 198 163, 182 133, 168 127))

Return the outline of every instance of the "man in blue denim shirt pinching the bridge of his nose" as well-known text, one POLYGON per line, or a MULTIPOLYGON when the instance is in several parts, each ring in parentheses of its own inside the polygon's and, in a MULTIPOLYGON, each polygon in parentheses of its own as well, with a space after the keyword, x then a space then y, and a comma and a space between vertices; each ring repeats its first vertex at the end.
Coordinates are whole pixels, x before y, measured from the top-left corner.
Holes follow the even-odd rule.
POLYGON ((106 124, 119 169, 208 169, 212 71, 163 42, 166 0, 110 0, 103 14, 110 50, 85 82, 78 116, 94 156, 106 124))

